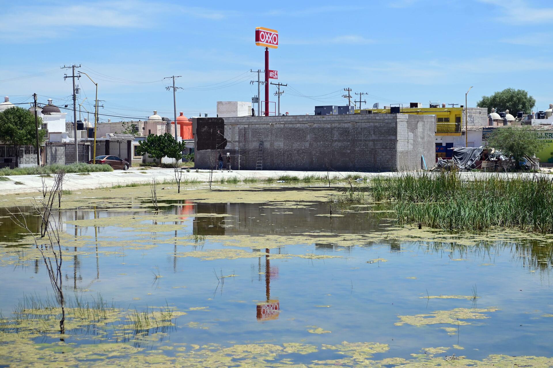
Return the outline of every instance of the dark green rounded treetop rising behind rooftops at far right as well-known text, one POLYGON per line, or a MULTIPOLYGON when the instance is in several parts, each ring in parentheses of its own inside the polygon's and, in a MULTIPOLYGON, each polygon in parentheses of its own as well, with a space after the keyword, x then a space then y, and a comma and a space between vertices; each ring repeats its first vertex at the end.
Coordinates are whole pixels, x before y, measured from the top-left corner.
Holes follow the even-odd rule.
POLYGON ((482 96, 482 100, 476 104, 478 107, 488 108, 488 113, 492 112, 492 108, 497 108, 497 111, 509 110, 512 115, 517 115, 517 112, 531 113, 532 108, 536 106, 536 100, 532 96, 528 96, 525 90, 515 90, 507 88, 500 92, 495 92, 492 96, 482 96))

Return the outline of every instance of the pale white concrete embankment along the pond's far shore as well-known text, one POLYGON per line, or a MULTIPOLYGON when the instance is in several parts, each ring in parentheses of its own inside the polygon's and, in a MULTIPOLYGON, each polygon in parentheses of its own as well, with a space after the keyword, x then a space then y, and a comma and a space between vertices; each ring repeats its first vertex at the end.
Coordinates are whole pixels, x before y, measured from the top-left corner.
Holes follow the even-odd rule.
MULTIPOLYGON (((359 172, 330 172, 332 179, 343 179, 347 175, 358 175, 359 177, 375 177, 375 176, 397 176, 404 175, 405 172, 385 172, 385 173, 359 173, 359 172)), ((437 174, 437 173, 431 173, 437 174)), ((283 175, 289 175, 291 177, 305 178, 308 176, 317 176, 325 178, 327 172, 312 172, 312 171, 273 171, 273 170, 238 170, 233 172, 227 171, 214 171, 212 180, 213 182, 220 182, 222 178, 225 179, 238 179, 240 181, 249 178, 263 179, 276 179, 283 175)), ((516 173, 460 173, 460 175, 466 180, 472 180, 475 178, 483 178, 489 175, 499 175, 502 178, 514 178, 524 175, 526 177, 535 177, 536 175, 544 176, 546 178, 553 178, 551 174, 516 174, 516 173)), ((42 191, 43 183, 40 175, 13 175, 0 181, 0 195, 6 194, 19 194, 19 193, 36 193, 42 191)), ((129 185, 133 183, 148 184, 155 178, 158 183, 168 183, 175 180, 175 174, 173 169, 149 169, 141 170, 140 168, 132 168, 128 171, 115 170, 113 172, 102 173, 80 173, 80 174, 65 174, 64 189, 66 190, 79 190, 79 189, 95 189, 95 188, 112 188, 116 185, 129 185)), ((50 186, 53 183, 53 177, 45 177, 45 184, 50 186)), ((182 172, 182 182, 201 182, 208 183, 210 180, 209 170, 200 170, 196 172, 191 170, 190 172, 182 172)))

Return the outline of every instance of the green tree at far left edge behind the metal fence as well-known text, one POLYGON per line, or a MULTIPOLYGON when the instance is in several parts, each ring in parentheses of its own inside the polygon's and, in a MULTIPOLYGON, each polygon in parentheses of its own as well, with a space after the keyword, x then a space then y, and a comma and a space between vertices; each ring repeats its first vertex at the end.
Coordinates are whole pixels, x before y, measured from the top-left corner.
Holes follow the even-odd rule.
MULTIPOLYGON (((38 126, 42 119, 38 118, 38 126)), ((39 129, 39 144, 44 142, 46 131, 39 129)), ((35 146, 34 114, 21 107, 10 107, 0 112, 0 142, 15 147, 15 163, 19 164, 19 149, 21 146, 35 146)))

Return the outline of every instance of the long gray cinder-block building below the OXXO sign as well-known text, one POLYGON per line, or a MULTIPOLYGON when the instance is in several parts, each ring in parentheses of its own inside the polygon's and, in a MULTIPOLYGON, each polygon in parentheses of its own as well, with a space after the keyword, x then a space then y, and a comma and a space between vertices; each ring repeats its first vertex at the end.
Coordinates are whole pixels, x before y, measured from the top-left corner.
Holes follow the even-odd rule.
POLYGON ((383 172, 435 162, 435 117, 406 114, 194 118, 195 164, 209 169, 221 152, 232 167, 255 170, 383 172))

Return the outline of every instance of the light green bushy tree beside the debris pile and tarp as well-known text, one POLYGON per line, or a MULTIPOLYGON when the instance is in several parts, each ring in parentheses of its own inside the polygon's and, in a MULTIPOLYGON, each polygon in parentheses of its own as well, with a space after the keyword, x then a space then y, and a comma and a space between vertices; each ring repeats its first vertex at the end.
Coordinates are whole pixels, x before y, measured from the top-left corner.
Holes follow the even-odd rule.
POLYGON ((527 126, 495 128, 488 138, 488 146, 499 149, 507 156, 513 157, 517 169, 520 168, 519 162, 524 156, 532 157, 544 149, 545 144, 527 126))

